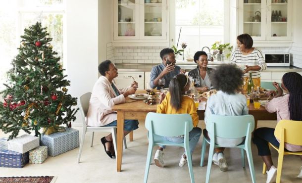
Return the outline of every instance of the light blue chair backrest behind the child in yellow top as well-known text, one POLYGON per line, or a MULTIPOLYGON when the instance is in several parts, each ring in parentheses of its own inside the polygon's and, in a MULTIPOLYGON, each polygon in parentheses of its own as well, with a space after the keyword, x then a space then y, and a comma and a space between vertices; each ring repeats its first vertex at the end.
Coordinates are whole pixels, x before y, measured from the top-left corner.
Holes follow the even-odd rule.
POLYGON ((193 129, 192 117, 189 114, 158 114, 149 112, 145 126, 148 131, 158 136, 175 137, 185 135, 193 129), (186 127, 186 124, 188 127, 186 127))

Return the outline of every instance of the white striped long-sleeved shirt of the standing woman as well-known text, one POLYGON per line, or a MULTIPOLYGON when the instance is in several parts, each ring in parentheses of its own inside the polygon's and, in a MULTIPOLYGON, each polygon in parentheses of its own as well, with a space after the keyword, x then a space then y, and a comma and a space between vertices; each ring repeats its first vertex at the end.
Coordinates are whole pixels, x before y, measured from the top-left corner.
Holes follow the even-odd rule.
POLYGON ((252 78, 259 78, 261 77, 260 71, 263 71, 266 69, 266 63, 263 57, 262 52, 258 48, 254 48, 252 53, 248 55, 244 55, 241 53, 239 49, 236 49, 233 52, 232 59, 231 59, 232 64, 236 64, 238 66, 255 66, 258 65, 261 69, 258 71, 249 71, 245 73, 245 77, 249 77, 250 73, 252 73, 252 78))

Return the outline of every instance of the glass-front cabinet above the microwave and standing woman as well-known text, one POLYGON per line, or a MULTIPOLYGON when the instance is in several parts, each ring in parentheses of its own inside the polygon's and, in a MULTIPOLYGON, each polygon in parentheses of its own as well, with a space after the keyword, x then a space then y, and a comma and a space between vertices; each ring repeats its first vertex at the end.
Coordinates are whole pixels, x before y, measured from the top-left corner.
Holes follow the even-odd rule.
POLYGON ((292 40, 292 0, 239 0, 239 34, 255 41, 292 40))

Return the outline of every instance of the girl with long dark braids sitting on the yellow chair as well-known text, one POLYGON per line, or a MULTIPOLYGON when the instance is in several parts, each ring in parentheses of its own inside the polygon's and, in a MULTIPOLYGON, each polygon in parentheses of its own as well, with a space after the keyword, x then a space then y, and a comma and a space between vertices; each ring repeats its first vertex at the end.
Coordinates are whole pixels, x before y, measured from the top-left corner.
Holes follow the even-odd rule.
MULTIPOLYGON (((288 72, 282 77, 281 87, 276 82, 273 85, 277 89, 277 94, 266 103, 266 110, 277 112, 277 122, 282 119, 302 121, 302 76, 296 72, 288 72), (282 96, 282 89, 287 93, 284 96, 282 96)), ((270 142, 279 147, 280 139, 274 136, 274 131, 273 128, 258 128, 255 130, 253 138, 253 142, 258 148, 258 155, 262 157, 268 170, 266 183, 276 181, 277 168, 273 165, 268 146, 268 142, 270 142)), ((285 143, 285 149, 293 152, 302 151, 302 146, 285 143)), ((302 159, 302 156, 300 158, 302 159)), ((298 178, 302 179, 302 170, 298 178)))

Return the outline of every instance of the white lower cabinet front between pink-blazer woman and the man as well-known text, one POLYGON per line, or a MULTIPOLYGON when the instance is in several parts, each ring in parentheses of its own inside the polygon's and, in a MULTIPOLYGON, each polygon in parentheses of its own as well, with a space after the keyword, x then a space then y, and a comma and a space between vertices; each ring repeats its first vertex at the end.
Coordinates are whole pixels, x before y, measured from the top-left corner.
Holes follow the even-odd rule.
POLYGON ((145 73, 144 72, 118 72, 118 76, 114 78, 114 82, 119 89, 129 87, 133 79, 138 83, 140 90, 145 89, 145 73))

